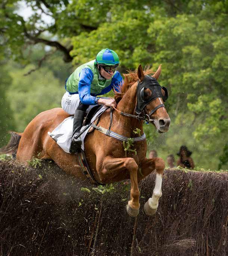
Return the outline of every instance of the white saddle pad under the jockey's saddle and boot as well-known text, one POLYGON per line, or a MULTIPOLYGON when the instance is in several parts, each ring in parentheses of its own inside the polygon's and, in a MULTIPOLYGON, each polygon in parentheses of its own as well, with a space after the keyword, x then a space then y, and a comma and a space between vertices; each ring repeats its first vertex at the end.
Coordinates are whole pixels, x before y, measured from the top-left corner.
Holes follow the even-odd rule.
MULTIPOLYGON (((98 112, 93 116, 91 119, 91 123, 96 119, 96 117, 106 111, 108 109, 107 106, 103 106, 98 110, 98 112)), ((73 134, 73 120, 74 116, 67 117, 60 123, 51 133, 48 132, 48 135, 52 137, 53 140, 56 141, 56 143, 62 148, 65 152, 70 153, 70 145, 71 145, 71 138, 73 134)), ((81 131, 85 128, 86 126, 81 127, 81 131)), ((89 128, 81 134, 81 149, 84 150, 84 139, 89 131, 89 128)))

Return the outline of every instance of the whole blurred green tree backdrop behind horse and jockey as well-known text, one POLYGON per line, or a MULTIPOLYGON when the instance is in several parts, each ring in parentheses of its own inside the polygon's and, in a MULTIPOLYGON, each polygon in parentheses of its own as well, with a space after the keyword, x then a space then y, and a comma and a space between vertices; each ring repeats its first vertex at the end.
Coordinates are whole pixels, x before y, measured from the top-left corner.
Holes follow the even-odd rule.
POLYGON ((144 126, 148 151, 166 160, 185 144, 197 167, 228 169, 227 15, 227 0, 2 0, 0 145, 60 107, 70 73, 111 48, 122 74, 162 64, 172 123, 166 134, 144 126))

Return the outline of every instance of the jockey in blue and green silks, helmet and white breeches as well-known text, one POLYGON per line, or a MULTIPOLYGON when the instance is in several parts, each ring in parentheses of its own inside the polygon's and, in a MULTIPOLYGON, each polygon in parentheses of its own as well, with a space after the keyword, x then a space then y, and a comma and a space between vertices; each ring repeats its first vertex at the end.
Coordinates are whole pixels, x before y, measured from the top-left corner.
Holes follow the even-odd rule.
POLYGON ((62 97, 62 108, 68 114, 74 114, 73 136, 70 153, 77 153, 81 148, 81 138, 76 136, 84 120, 89 105, 106 105, 115 107, 112 98, 100 98, 111 89, 119 92, 123 78, 116 71, 119 65, 118 55, 108 48, 101 50, 95 60, 91 60, 78 68, 66 80, 66 93, 62 97))

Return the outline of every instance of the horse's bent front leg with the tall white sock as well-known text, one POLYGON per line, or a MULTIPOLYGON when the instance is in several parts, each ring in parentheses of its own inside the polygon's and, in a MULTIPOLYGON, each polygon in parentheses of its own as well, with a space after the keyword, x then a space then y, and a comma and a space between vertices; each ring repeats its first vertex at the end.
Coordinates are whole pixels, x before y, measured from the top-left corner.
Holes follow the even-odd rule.
POLYGON ((165 163, 164 160, 161 158, 151 158, 143 161, 141 165, 142 174, 144 176, 149 175, 152 170, 156 170, 156 180, 155 180, 155 187, 153 190, 152 197, 148 199, 148 201, 144 205, 144 210, 147 215, 154 215, 158 208, 158 200, 162 195, 161 192, 161 183, 162 177, 164 173, 165 163))

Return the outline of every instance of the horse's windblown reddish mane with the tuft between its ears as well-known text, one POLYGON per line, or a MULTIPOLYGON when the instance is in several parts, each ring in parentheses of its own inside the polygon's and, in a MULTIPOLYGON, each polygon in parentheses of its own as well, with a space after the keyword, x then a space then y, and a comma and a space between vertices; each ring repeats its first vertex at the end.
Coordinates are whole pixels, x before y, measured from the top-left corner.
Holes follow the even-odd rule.
MULTIPOLYGON (((146 67, 144 70, 144 75, 154 74, 155 72, 150 69, 150 67, 146 67)), ((124 96, 124 94, 132 87, 132 85, 138 81, 137 70, 135 71, 128 71, 128 74, 123 74, 124 76, 124 83, 120 87, 120 92, 115 92, 115 101, 118 103, 124 96)))

